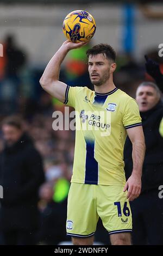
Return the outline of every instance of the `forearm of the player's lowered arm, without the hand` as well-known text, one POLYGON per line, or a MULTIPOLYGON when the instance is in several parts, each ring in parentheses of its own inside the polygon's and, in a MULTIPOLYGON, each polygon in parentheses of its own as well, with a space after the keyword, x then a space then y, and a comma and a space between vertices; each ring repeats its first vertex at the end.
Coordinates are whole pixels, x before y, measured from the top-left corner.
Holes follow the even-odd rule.
POLYGON ((142 175, 142 165, 145 158, 145 142, 144 141, 136 141, 133 143, 133 173, 134 175, 138 175, 141 177, 142 175))

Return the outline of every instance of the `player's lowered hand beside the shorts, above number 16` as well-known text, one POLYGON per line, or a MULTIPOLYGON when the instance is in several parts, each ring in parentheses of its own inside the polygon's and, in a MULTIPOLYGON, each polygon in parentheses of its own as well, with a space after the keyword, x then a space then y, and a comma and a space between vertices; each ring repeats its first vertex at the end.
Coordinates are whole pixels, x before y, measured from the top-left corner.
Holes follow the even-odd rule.
POLYGON ((127 192, 127 199, 133 201, 135 198, 139 197, 141 192, 141 178, 138 175, 131 174, 127 180, 123 192, 127 192))

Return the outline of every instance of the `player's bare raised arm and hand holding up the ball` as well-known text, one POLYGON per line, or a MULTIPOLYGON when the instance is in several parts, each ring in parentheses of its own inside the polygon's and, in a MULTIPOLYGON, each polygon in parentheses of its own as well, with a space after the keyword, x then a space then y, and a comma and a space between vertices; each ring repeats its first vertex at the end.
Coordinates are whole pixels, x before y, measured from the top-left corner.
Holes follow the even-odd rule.
POLYGON ((65 41, 49 61, 42 77, 40 78, 40 84, 42 88, 61 102, 65 102, 67 84, 59 81, 60 65, 66 57, 68 51, 82 47, 85 44, 85 42, 79 42, 76 44, 69 40, 65 41))

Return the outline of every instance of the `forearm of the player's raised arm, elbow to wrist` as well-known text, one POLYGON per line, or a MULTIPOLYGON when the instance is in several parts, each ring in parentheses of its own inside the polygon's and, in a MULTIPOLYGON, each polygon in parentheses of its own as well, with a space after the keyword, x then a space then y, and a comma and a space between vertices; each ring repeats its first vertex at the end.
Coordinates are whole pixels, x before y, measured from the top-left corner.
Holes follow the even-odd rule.
POLYGON ((42 85, 46 85, 51 81, 59 80, 60 65, 66 57, 67 52, 67 48, 61 46, 59 50, 54 54, 40 79, 40 83, 42 85))

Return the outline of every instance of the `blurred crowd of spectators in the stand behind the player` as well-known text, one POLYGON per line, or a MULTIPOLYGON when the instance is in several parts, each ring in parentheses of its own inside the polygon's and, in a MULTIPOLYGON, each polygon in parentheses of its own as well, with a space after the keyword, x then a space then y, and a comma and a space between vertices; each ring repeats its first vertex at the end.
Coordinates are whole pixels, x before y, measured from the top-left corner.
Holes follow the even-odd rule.
MULTIPOLYGON (((64 105, 43 92, 39 79, 45 67, 42 70, 30 68, 26 51, 17 46, 13 35, 7 35, 3 45, 4 56, 0 58, 0 121, 2 123, 10 115, 21 117, 23 131, 32 138, 34 147, 42 157, 45 179, 38 190, 40 224, 35 241, 37 244, 57 245, 69 239, 65 230, 66 200, 72 174, 75 132, 52 128, 53 112, 61 111, 64 114, 64 105)), ((87 47, 69 54, 60 72, 61 81, 71 86, 92 88, 87 72, 87 47)), ((146 54, 160 62, 161 58, 158 59, 155 50, 146 54)), ((163 62, 160 69, 163 69, 163 62)), ((142 63, 137 63, 129 53, 118 54, 114 75, 118 88, 135 97, 137 86, 147 80, 153 81, 153 78, 146 73, 143 59, 142 63)), ((1 152, 3 148, 1 131, 1 152)), ((96 240, 105 243, 108 236, 106 239, 101 224, 98 230, 96 240)))

